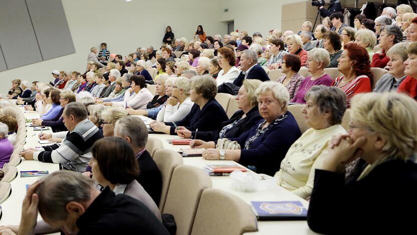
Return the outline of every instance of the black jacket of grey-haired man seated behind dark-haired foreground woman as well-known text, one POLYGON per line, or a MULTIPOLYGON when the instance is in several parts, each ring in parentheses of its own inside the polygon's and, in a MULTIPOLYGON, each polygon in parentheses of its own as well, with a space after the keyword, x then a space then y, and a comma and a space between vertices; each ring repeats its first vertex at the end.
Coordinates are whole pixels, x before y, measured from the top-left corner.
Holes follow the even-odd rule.
POLYGON ((162 176, 158 166, 146 150, 137 159, 137 163, 139 164, 139 176, 136 178, 137 182, 152 197, 155 204, 159 205, 162 192, 162 176))

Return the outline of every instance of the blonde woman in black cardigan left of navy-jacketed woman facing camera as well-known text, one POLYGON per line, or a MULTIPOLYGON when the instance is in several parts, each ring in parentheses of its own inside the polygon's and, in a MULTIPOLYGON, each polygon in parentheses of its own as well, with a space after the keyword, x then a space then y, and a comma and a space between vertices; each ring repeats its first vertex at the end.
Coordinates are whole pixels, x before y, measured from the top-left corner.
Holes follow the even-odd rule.
MULTIPOLYGON (((198 132, 197 139, 217 141, 219 138, 237 138, 258 123, 262 116, 259 114, 255 90, 261 83, 258 79, 244 80, 236 96, 239 110, 228 121, 223 122, 219 130, 198 132)), ((187 129, 177 130, 177 134, 183 138, 191 137, 191 132, 187 129)))

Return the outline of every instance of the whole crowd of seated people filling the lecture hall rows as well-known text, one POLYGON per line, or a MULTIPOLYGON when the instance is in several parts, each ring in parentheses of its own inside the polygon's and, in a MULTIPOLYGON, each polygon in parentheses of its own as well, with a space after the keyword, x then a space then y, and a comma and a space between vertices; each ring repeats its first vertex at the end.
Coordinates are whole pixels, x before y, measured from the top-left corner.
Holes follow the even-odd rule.
MULTIPOLYGON (((258 32, 250 37, 242 31, 225 35, 223 42, 220 35, 206 35, 202 26, 189 43, 186 38, 173 40, 167 27, 166 45, 160 50, 138 48, 127 57, 107 53, 109 58, 100 57, 100 62, 97 49, 91 48, 84 74, 54 70, 52 85, 12 81, 7 96, 18 99, 18 104, 30 104, 26 110, 40 113, 34 125, 52 127, 54 133, 40 139, 58 142, 27 148, 20 155, 92 176, 105 188, 102 195, 130 200, 132 206, 146 211, 144 217, 152 220, 147 225, 161 234, 166 232, 157 208, 161 173, 145 150, 148 128, 129 113, 145 115, 155 120, 149 124, 151 131, 195 139, 190 147, 204 148, 203 159, 234 160, 257 173, 275 174, 281 187, 305 199, 311 196, 308 224, 314 231, 340 232, 339 227, 349 223, 363 204, 359 192, 365 191, 361 196, 377 198, 379 203, 387 199, 387 195, 372 196, 380 192, 378 185, 383 186, 380 177, 386 182, 415 183, 410 156, 416 145, 412 98, 417 99, 417 17, 404 5, 397 7, 396 17, 392 10, 384 9, 374 22, 364 15, 354 16, 354 27, 344 25, 342 15, 333 13, 331 22, 325 19, 316 27, 317 41, 312 41, 311 24, 304 22, 301 37, 280 30, 271 30, 264 38, 258 32), (177 51, 185 53, 175 56, 177 51), (375 77, 371 67, 388 72, 375 77), (327 74, 325 68, 337 69, 343 76, 330 77, 334 71, 327 74), (268 77, 274 69, 285 74, 273 79, 277 82, 268 77), (301 69, 311 76, 304 78, 301 69), (146 83, 155 85, 155 95, 146 83), (215 98, 218 92, 236 95, 239 110, 230 119, 215 98), (311 129, 304 133, 288 111, 292 103, 305 104, 302 113, 311 129), (351 108, 352 120, 348 133, 340 126, 346 108, 351 108), (219 150, 218 144, 225 141, 236 141, 239 148, 219 150), (396 172, 393 179, 386 178, 388 170, 396 172), (119 178, 118 171, 129 174, 119 178), (114 194, 132 196, 144 205, 114 194), (328 215, 332 209, 328 203, 335 205, 340 198, 356 198, 344 206, 347 212, 341 215, 351 216, 350 220, 336 221, 328 215)), ((0 122, 2 168, 13 152, 18 127, 16 118, 3 112, 0 122)), ((60 184, 74 184, 66 178, 82 181, 74 173, 54 174, 57 179, 46 177, 28 192, 46 190, 42 187, 48 181, 52 185, 48 190, 57 190, 58 180, 60 184)), ((92 187, 87 177, 83 180, 84 188, 92 187)), ((409 189, 409 200, 414 191, 409 189)), ((388 195, 390 200, 399 199, 393 193, 388 195)), ((46 213, 41 204, 39 208, 41 214, 46 213)), ((145 212, 140 213, 135 221, 145 212)), ((376 215, 378 221, 387 221, 379 214, 382 211, 376 215)), ((371 215, 375 213, 365 212, 359 218, 371 215)), ((364 223, 362 220, 358 223, 364 223)))

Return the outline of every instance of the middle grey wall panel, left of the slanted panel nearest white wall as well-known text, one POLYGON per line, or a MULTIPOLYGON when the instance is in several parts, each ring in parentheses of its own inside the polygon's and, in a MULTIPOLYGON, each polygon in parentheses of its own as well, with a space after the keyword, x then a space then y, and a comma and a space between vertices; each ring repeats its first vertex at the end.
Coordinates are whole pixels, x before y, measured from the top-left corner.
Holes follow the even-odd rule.
POLYGON ((0 45, 9 69, 42 61, 25 0, 0 0, 0 45))

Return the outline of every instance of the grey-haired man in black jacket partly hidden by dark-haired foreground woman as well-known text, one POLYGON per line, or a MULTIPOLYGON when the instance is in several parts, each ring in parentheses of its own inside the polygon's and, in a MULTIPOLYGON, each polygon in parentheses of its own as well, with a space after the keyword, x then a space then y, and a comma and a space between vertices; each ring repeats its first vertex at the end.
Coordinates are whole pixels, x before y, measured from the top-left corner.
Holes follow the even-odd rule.
POLYGON ((117 121, 114 135, 129 142, 139 164, 139 175, 136 180, 143 186, 150 197, 159 205, 162 192, 162 175, 151 157, 145 150, 148 140, 148 129, 137 116, 126 116, 117 121))

